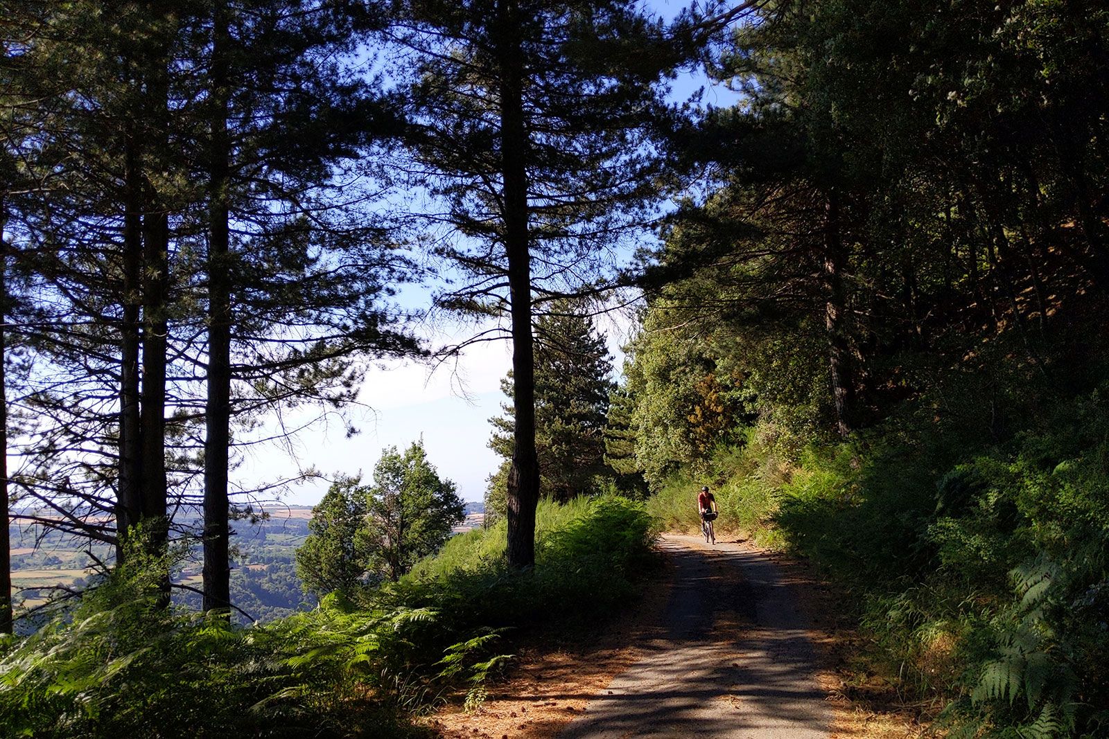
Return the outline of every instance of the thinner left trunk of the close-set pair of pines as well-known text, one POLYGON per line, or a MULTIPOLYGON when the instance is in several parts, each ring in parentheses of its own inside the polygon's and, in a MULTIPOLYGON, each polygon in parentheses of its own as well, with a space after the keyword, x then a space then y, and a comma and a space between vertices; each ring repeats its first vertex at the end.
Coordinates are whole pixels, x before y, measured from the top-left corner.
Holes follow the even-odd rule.
POLYGON ((129 126, 124 141, 123 316, 120 326, 120 482, 115 499, 116 562, 125 556, 128 532, 142 519, 142 424, 139 347, 142 305, 142 184, 138 142, 129 126))

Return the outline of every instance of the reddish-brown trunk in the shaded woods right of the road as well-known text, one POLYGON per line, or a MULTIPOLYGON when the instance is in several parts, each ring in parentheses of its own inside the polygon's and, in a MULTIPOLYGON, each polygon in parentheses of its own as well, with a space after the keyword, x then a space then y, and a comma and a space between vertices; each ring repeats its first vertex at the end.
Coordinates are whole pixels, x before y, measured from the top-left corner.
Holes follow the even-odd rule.
POLYGON ((825 202, 824 224, 824 326, 828 339, 828 368, 832 376, 832 398, 835 402, 836 429, 841 437, 855 430, 855 379, 852 371, 851 346, 847 342, 846 291, 843 273, 847 255, 843 248, 840 224, 840 199, 830 193, 825 202))

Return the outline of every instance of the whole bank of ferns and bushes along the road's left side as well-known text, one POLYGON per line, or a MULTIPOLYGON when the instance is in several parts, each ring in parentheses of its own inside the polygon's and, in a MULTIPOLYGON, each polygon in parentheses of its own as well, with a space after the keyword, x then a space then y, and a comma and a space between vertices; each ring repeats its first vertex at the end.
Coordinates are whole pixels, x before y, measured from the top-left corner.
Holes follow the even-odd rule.
POLYGON ((542 504, 537 565, 503 524, 455 537, 400 583, 237 628, 156 607, 164 563, 129 558, 35 635, 0 643, 0 735, 414 737, 411 716, 505 663, 509 628, 588 623, 625 603, 650 556, 642 504, 542 504))

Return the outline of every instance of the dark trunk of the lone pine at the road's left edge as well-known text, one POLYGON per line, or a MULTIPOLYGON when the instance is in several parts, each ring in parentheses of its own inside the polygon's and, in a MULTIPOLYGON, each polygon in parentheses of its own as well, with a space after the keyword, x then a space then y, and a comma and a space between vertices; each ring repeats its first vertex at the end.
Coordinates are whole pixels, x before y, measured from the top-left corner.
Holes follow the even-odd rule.
POLYGON ((536 362, 531 337, 531 254, 528 235, 528 138, 523 121, 520 11, 517 0, 500 0, 501 176, 503 177, 505 252, 512 324, 512 407, 516 428, 508 472, 508 562, 536 562, 536 509, 539 460, 536 453, 536 362))

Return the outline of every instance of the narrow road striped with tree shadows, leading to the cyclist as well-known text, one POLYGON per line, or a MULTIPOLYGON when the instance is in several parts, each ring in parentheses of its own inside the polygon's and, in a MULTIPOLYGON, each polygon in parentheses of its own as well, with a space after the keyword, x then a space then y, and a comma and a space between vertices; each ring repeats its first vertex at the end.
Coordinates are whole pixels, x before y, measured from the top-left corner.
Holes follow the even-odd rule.
POLYGON ((806 624, 777 567, 740 543, 668 535, 665 629, 559 735, 563 739, 825 739, 806 624))

